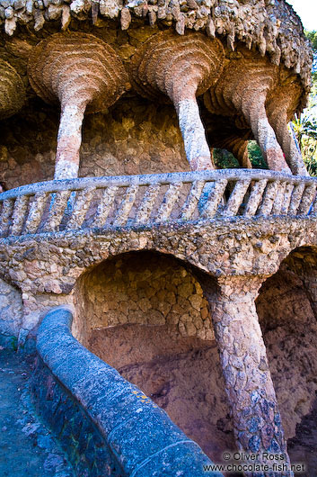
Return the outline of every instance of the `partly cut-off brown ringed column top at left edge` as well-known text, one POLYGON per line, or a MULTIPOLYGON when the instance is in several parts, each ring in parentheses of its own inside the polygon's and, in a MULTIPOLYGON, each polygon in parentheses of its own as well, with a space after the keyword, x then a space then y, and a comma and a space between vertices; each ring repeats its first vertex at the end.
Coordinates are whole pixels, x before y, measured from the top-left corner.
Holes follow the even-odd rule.
POLYGON ((0 119, 18 112, 25 101, 25 88, 18 72, 0 59, 0 119))

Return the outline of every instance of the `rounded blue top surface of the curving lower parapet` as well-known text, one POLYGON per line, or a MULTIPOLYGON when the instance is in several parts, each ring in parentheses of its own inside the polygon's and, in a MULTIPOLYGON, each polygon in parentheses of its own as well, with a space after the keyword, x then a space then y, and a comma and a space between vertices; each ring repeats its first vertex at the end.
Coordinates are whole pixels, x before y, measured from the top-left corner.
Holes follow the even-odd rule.
MULTIPOLYGON (((146 464, 154 463, 160 475, 172 475, 171 469, 175 475, 180 470, 186 473, 190 465, 192 475, 204 477, 204 466, 213 463, 198 444, 144 392, 81 345, 71 332, 72 321, 72 307, 62 305, 48 311, 38 331, 37 351, 53 379, 99 429, 110 455, 121 467, 120 475, 137 476, 146 464), (116 429, 123 427, 127 433, 116 435, 116 429), (143 432, 136 439, 134 433, 139 428, 143 432)), ((207 474, 223 476, 216 471, 207 474)))

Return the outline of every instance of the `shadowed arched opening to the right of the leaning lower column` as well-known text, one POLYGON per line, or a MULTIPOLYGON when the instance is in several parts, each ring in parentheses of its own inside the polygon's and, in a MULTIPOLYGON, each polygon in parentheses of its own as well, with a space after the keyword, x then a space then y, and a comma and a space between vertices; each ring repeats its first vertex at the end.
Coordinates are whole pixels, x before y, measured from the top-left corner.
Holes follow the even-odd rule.
POLYGON ((257 300, 289 455, 307 465, 308 476, 317 469, 316 269, 316 248, 295 249, 257 300))

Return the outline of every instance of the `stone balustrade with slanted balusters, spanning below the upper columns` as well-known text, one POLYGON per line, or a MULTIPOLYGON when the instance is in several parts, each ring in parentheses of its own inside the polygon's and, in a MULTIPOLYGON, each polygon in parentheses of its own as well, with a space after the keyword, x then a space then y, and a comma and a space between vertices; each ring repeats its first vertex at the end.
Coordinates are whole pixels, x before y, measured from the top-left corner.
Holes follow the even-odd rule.
POLYGON ((316 188, 312 177, 250 169, 48 181, 0 194, 0 237, 304 217, 316 213, 316 188))

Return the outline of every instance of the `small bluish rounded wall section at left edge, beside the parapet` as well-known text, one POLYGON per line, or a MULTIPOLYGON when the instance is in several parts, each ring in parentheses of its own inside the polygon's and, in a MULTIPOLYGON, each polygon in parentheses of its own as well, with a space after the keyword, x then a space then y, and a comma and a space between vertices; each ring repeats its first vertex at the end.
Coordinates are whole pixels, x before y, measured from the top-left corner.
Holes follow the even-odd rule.
POLYGON ((13 347, 22 325, 22 293, 0 278, 0 345, 13 347))

